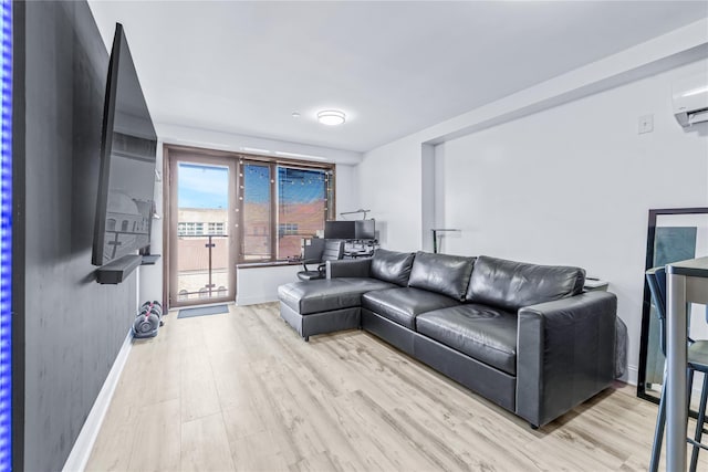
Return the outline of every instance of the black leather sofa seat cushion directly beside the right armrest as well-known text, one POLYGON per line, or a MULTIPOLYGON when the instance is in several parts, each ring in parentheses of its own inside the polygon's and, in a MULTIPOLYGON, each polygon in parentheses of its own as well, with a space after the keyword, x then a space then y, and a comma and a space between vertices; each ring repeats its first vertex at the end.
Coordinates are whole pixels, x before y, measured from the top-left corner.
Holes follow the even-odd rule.
POLYGON ((424 313, 418 333, 468 356, 517 375, 517 315, 486 305, 468 304, 424 313))

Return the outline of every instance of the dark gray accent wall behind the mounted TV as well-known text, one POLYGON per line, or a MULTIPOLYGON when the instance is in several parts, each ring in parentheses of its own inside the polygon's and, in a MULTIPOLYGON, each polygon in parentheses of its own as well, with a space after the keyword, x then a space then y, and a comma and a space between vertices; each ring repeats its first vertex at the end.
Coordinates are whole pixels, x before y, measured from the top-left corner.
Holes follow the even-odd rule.
POLYGON ((14 96, 23 101, 14 119, 24 136, 14 159, 24 169, 14 198, 24 262, 14 308, 24 327, 24 420, 14 426, 24 429, 22 468, 50 471, 66 461, 128 333, 136 280, 100 285, 91 265, 108 69, 91 10, 85 1, 21 9, 14 54, 24 71, 15 90, 24 94, 14 96))

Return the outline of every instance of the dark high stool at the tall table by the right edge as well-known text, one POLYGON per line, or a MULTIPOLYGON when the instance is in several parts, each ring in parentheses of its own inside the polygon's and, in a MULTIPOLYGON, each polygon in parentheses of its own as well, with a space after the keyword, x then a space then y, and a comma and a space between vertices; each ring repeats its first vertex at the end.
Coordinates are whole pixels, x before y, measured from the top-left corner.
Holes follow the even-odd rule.
MULTIPOLYGON (((666 356, 666 270, 664 268, 655 268, 646 271, 646 281, 649 285, 652 300, 656 307, 659 326, 659 346, 664 356, 666 356)), ((698 465, 698 452, 700 449, 708 449, 700 443, 706 420, 706 400, 708 399, 708 340, 694 340, 688 338, 687 349, 687 378, 688 378, 688 408, 690 410, 690 394, 694 385, 694 374, 696 371, 704 374, 704 386, 700 392, 700 405, 698 407, 698 420, 696 422, 696 432, 694 438, 687 438, 686 441, 693 444, 690 455, 690 471, 695 471, 698 465)), ((666 377, 666 373, 665 373, 666 377)), ((666 380, 666 378, 665 378, 666 380)), ((665 382, 666 385, 666 382, 665 382)), ((665 387, 664 385, 664 387, 665 387)), ((664 426, 666 423, 666 388, 662 388, 662 398, 659 400, 659 411, 656 418, 656 429, 654 431, 654 444, 652 447, 652 461, 649 462, 649 471, 656 472, 659 468, 659 458, 662 455, 662 440, 664 438, 664 426)))

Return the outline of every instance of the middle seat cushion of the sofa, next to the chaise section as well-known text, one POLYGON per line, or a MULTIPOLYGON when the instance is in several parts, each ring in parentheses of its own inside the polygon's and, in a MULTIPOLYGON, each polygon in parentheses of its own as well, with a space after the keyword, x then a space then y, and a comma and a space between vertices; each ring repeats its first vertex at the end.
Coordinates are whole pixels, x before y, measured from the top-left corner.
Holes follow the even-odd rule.
POLYGON ((362 296, 362 307, 410 329, 415 329, 420 313, 455 305, 459 302, 449 296, 413 287, 379 290, 362 296))

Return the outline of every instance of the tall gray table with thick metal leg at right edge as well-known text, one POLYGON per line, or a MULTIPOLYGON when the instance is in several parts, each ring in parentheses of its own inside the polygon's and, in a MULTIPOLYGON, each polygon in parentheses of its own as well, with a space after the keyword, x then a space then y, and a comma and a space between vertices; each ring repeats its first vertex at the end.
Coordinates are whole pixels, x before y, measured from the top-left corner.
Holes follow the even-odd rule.
POLYGON ((708 304, 708 258, 666 266, 666 470, 686 470, 687 303, 708 304))

